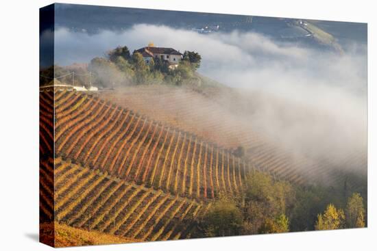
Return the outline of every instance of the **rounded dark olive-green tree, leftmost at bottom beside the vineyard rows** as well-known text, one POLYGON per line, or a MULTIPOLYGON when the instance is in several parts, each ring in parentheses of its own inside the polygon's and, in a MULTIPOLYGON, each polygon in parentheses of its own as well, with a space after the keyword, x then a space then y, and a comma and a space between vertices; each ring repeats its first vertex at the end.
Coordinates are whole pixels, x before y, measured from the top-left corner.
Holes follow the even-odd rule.
POLYGON ((239 235, 243 216, 236 203, 230 199, 217 201, 203 219, 204 232, 208 237, 239 235))

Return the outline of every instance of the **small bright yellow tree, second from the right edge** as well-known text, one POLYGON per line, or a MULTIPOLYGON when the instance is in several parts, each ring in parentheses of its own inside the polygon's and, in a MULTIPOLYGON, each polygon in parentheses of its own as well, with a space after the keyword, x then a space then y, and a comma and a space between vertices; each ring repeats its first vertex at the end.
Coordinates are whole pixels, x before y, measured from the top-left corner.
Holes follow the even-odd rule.
POLYGON ((315 230, 332 230, 344 227, 345 215, 342 209, 337 209, 333 204, 328 204, 324 214, 318 215, 315 230))

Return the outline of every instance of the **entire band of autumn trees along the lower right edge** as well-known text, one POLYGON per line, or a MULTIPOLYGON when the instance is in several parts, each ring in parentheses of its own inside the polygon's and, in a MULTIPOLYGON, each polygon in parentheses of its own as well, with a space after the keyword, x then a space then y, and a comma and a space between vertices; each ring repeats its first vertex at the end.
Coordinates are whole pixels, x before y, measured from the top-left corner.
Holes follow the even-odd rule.
POLYGON ((196 220, 195 237, 364 227, 363 198, 358 193, 344 196, 334 187, 299 187, 254 171, 238 198, 220 196, 196 220))

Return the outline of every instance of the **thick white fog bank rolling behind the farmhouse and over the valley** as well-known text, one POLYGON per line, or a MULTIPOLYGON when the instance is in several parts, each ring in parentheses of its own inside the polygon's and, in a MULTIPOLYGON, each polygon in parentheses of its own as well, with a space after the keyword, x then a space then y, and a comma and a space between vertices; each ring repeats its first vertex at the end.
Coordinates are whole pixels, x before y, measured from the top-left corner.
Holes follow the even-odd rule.
MULTIPOLYGON (((365 45, 349 44, 339 54, 255 33, 204 35, 154 25, 90 36, 58 29, 55 42, 59 65, 89 62, 119 45, 131 52, 149 42, 182 53, 196 51, 202 55, 198 71, 232 88, 232 95, 223 92, 218 97, 229 117, 242 124, 240 130, 250 124, 284 150, 313 161, 332 159, 337 168, 355 153, 366 158, 365 45), (234 92, 241 98, 232 100, 234 92)), ((187 102, 195 107, 195 101, 187 102)), ((366 172, 366 166, 358 166, 357 161, 348 168, 366 172)))

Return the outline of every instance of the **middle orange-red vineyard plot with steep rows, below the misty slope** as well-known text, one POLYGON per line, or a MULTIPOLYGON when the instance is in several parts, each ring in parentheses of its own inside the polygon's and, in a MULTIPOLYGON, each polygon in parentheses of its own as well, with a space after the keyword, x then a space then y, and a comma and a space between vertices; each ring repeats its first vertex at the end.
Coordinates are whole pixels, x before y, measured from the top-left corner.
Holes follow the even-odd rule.
POLYGON ((78 92, 56 94, 56 154, 189 198, 237 193, 250 164, 191 133, 78 92))

